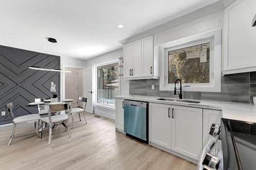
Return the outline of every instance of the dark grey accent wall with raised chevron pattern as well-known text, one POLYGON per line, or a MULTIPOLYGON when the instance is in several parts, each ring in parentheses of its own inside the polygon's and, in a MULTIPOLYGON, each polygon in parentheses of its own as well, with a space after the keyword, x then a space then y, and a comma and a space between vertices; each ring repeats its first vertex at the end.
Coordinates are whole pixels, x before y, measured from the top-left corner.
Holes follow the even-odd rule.
POLYGON ((36 98, 50 98, 51 82, 60 94, 60 73, 29 69, 28 66, 60 68, 60 57, 0 45, 0 125, 9 124, 5 105, 13 102, 14 115, 38 113, 37 108, 27 107, 36 98), (1 112, 6 111, 2 116, 1 112))

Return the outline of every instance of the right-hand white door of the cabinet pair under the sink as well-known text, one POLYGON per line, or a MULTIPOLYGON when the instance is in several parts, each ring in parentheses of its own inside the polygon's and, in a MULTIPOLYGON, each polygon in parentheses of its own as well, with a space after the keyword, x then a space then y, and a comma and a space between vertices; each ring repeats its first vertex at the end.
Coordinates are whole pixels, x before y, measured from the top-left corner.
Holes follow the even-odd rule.
POLYGON ((198 159, 202 151, 202 109, 172 106, 172 150, 198 159))

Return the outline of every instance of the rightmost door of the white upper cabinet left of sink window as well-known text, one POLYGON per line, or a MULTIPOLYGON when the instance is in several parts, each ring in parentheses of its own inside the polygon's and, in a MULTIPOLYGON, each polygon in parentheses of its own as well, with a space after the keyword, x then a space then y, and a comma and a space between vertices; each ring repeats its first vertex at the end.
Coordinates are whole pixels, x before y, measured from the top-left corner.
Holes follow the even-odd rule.
POLYGON ((154 75, 154 42, 153 35, 142 38, 142 76, 154 75))

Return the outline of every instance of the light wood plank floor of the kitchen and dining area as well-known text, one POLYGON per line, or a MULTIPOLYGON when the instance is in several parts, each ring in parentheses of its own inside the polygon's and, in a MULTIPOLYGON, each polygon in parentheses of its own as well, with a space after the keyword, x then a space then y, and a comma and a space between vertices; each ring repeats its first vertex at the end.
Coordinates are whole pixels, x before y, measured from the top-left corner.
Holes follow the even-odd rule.
POLYGON ((111 119, 89 113, 86 117, 87 125, 75 117, 71 138, 58 126, 51 145, 48 130, 36 138, 29 123, 17 125, 9 146, 12 126, 0 127, 0 169, 197 169, 194 163, 115 132, 111 119))

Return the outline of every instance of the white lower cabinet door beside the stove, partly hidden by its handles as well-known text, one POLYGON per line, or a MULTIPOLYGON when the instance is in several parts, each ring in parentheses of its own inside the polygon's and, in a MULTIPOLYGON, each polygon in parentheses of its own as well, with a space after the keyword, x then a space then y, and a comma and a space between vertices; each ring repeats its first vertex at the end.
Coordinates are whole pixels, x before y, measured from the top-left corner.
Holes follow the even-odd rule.
POLYGON ((220 110, 203 109, 203 147, 208 142, 208 140, 210 140, 210 138, 214 138, 209 135, 210 127, 212 124, 220 125, 221 117, 222 111, 220 110))

